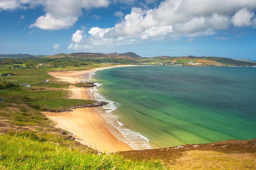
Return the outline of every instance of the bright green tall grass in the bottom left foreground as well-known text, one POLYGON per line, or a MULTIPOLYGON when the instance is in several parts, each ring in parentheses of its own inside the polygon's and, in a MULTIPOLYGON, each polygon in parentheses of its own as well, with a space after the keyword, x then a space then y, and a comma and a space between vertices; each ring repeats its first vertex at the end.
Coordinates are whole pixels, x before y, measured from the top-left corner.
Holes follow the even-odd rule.
POLYGON ((115 154, 91 154, 33 132, 0 136, 0 169, 164 169, 160 161, 133 161, 115 154))

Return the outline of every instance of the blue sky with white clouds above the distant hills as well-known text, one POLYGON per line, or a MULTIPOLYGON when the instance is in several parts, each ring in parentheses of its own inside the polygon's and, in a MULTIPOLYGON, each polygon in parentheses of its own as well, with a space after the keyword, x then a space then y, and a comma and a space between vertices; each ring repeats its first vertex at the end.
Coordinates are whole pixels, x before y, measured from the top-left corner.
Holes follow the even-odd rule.
POLYGON ((255 14, 255 0, 0 0, 0 53, 256 60, 255 14))

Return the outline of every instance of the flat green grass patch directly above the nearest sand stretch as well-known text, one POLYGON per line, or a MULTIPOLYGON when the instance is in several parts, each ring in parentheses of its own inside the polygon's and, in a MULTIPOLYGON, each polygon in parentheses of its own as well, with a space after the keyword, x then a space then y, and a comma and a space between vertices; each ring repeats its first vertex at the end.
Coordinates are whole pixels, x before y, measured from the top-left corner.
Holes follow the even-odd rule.
POLYGON ((31 102, 34 108, 39 108, 40 110, 64 110, 69 109, 72 106, 81 106, 84 104, 93 104, 92 100, 82 100, 82 99, 57 99, 57 100, 39 100, 31 102))

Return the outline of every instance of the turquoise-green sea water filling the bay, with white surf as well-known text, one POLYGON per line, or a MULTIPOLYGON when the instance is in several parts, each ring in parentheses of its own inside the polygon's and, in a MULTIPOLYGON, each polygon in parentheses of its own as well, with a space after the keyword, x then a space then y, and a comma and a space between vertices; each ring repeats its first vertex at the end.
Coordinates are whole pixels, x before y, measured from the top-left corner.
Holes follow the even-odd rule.
POLYGON ((105 119, 139 148, 256 138, 256 68, 119 67, 94 81, 105 119))

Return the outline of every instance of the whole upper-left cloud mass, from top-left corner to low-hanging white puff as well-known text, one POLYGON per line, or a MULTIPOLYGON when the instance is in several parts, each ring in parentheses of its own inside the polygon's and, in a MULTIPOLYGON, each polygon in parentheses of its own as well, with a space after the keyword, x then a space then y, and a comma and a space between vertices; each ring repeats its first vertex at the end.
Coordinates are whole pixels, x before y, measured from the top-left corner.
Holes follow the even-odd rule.
MULTIPOLYGON (((27 9, 43 6, 45 15, 30 25, 45 30, 67 29, 74 25, 82 10, 108 7, 108 0, 0 0, 0 10, 27 9)), ((99 16, 97 16, 99 17, 99 16)), ((97 17, 95 17, 97 19, 97 17)))

